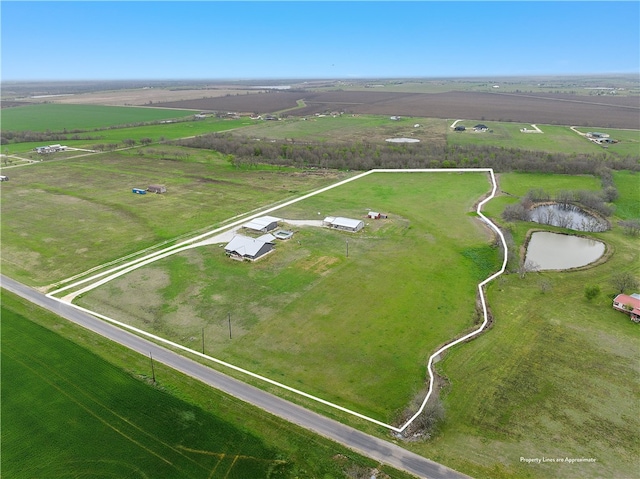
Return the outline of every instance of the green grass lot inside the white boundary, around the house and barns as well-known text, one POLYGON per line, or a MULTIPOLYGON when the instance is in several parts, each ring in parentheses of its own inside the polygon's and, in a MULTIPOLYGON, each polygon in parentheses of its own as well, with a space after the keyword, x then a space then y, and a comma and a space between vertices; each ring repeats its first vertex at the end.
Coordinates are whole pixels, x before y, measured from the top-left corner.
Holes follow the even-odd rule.
POLYGON ((200 247, 79 304, 195 350, 204 328, 212 356, 393 421, 425 392, 429 355, 473 326, 477 283, 499 267, 469 215, 489 190, 483 173, 369 175, 273 213, 389 215, 358 234, 295 227, 256 263, 200 247))

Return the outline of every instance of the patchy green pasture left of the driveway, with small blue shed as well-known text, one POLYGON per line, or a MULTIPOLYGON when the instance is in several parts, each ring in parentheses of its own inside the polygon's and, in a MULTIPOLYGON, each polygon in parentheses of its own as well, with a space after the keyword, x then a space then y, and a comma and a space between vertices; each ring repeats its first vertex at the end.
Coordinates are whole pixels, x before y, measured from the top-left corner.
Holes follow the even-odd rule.
POLYGON ((183 153, 104 153, 12 169, 1 190, 4 273, 49 284, 340 176, 241 170, 217 153, 178 160, 175 152, 183 153), (157 183, 166 194, 131 192, 157 183))

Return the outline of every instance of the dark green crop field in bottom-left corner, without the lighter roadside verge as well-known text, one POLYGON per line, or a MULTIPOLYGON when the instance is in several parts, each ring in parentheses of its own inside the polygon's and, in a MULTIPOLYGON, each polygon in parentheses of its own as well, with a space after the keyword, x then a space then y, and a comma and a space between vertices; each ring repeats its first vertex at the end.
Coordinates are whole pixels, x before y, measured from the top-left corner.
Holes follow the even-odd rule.
POLYGON ((15 478, 268 477, 256 437, 2 308, 2 467, 15 478))

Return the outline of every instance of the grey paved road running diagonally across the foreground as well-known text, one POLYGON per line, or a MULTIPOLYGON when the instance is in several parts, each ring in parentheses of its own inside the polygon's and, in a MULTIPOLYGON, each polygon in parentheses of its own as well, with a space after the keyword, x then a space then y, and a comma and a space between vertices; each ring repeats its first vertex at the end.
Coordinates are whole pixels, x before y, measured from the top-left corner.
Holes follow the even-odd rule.
POLYGON ((242 401, 251 403, 271 414, 332 439, 381 463, 428 479, 461 479, 468 477, 409 452, 396 444, 370 436, 357 429, 308 411, 284 399, 182 357, 157 344, 84 313, 71 305, 48 298, 42 293, 4 275, 0 275, 0 286, 140 354, 148 356, 151 353, 154 361, 163 363, 242 401))

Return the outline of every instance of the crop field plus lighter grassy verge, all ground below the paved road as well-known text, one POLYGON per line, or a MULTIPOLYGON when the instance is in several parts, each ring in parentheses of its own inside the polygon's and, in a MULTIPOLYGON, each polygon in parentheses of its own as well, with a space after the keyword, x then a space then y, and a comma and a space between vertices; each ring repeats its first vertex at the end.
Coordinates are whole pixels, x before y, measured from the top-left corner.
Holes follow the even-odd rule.
POLYGON ((5 477, 329 479, 376 466, 160 364, 154 385, 149 358, 5 291, 2 328, 5 477))

